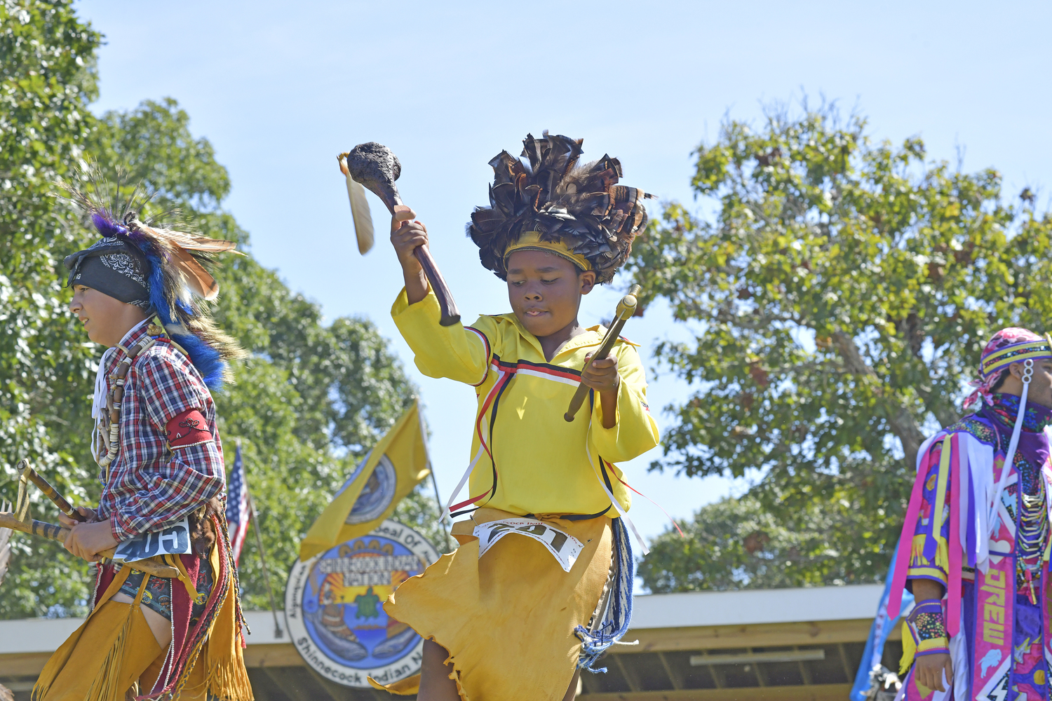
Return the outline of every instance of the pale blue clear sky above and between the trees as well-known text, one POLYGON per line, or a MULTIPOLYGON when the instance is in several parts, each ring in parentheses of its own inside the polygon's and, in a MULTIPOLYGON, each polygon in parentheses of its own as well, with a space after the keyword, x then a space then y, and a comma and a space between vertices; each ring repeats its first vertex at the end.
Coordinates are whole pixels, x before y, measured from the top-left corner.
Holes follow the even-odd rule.
MULTIPOLYGON (((367 316, 391 339, 421 387, 444 496, 470 457, 473 393, 416 371, 389 315, 402 285, 396 257, 382 239, 367 256, 357 251, 336 163, 355 144, 379 141, 401 159, 403 199, 428 225, 467 321, 508 308, 464 224, 486 202, 486 163, 501 149, 517 153, 527 131, 583 137, 584 158, 620 158, 627 184, 691 202, 690 153, 717 136, 723 119, 758 125, 764 105, 825 97, 866 115, 875 139, 919 135, 931 158, 956 163, 964 153, 966 170, 996 166, 1006 197, 1030 186, 1048 206, 1048 3, 80 0, 77 7, 107 38, 96 109, 177 99, 230 171, 224 206, 250 232, 254 254, 329 319, 367 316)), ((383 230, 384 207, 369 197, 383 230)), ((618 296, 586 297, 582 321, 609 316, 618 296)), ((660 306, 625 333, 647 345, 688 335, 660 306)), ((690 391, 651 375, 652 407, 690 391)), ((720 477, 648 474, 656 457, 624 467, 673 516, 743 489, 720 477)), ((643 499, 631 515, 646 535, 667 524, 643 499)))

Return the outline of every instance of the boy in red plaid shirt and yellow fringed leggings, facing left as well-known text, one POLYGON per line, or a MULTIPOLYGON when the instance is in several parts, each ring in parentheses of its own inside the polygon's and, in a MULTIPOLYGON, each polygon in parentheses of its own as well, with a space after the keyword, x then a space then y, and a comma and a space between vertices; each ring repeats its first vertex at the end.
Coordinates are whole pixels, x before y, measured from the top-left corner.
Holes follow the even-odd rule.
POLYGON ((209 391, 241 351, 195 301, 218 292, 197 256, 234 244, 150 226, 136 201, 115 212, 69 189, 102 234, 65 259, 69 309, 108 350, 92 407, 102 495, 97 509, 78 509, 86 522, 60 516, 70 529, 65 547, 98 561, 98 553, 185 517, 191 552, 153 558, 175 578, 99 563, 92 611, 47 661, 33 698, 249 701, 209 391))

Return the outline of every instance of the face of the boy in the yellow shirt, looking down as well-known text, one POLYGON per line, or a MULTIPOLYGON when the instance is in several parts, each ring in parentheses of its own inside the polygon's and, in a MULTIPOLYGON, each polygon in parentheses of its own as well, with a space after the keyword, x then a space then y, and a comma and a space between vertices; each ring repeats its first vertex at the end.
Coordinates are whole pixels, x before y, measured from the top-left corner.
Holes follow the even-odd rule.
POLYGON ((522 250, 508 257, 511 310, 538 338, 570 325, 578 317, 581 295, 591 292, 594 286, 594 272, 581 272, 561 255, 522 250))

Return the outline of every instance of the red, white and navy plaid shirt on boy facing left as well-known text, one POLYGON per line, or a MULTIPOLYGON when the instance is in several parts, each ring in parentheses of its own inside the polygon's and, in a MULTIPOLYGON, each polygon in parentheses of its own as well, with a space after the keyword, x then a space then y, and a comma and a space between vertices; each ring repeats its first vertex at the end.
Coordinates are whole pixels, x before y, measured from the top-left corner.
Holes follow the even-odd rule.
MULTIPOLYGON (((122 343, 132 348, 146 326, 122 343)), ((124 351, 114 349, 105 366, 107 393, 124 351)), ((103 442, 104 445, 104 442, 103 442)), ((223 491, 223 448, 216 428, 216 406, 201 375, 185 355, 159 339, 132 363, 121 405, 120 452, 99 475, 99 515, 113 519, 114 537, 126 540, 177 521, 223 491), (211 440, 168 449, 168 422, 196 409, 211 440)))

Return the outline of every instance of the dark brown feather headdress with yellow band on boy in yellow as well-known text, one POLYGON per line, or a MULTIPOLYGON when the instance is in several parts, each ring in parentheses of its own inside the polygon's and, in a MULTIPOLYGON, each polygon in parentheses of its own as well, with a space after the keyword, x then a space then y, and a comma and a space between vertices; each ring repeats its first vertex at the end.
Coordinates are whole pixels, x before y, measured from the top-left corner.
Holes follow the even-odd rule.
POLYGON ((508 254, 543 249, 595 271, 608 283, 632 250, 632 241, 647 224, 642 201, 652 198, 634 187, 618 185, 621 162, 604 156, 579 166, 583 139, 526 135, 520 159, 501 151, 489 165, 493 184, 489 207, 471 212, 467 233, 479 247, 482 265, 507 279, 508 254))

